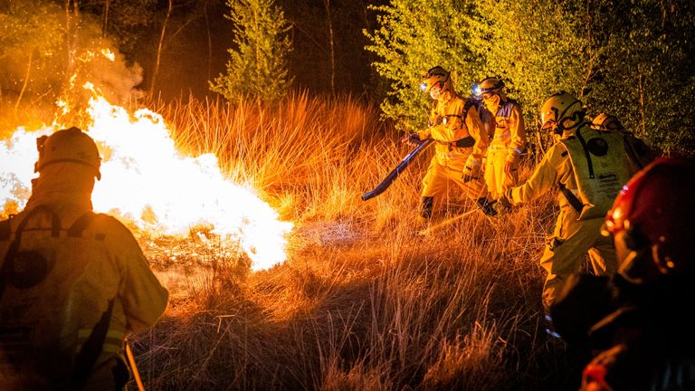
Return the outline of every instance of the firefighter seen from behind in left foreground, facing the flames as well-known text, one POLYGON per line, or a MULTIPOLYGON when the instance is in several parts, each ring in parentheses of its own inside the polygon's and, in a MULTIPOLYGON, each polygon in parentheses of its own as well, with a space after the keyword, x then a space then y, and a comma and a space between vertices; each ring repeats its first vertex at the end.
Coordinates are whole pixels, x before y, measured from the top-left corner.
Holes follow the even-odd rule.
POLYGON ((128 228, 92 213, 92 139, 63 129, 37 147, 32 196, 0 222, 0 389, 122 389, 124 339, 168 292, 128 228))

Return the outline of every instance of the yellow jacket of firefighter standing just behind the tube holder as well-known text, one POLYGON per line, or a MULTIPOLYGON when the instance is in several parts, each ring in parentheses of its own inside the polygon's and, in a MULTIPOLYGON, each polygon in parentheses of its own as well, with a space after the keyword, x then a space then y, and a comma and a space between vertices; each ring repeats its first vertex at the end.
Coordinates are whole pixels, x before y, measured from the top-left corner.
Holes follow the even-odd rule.
POLYGON ((495 115, 495 130, 490 137, 491 149, 506 149, 507 161, 519 162, 526 148, 526 128, 521 108, 516 100, 502 100, 495 115))

